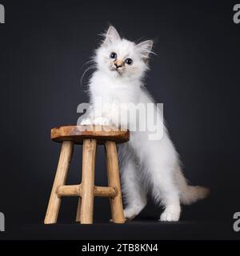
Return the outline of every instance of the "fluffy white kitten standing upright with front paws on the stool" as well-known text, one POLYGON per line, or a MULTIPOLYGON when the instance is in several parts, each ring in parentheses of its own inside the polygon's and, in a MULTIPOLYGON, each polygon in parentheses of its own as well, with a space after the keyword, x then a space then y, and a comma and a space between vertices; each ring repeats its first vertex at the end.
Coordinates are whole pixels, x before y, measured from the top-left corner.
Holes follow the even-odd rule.
MULTIPOLYGON (((82 119, 82 125, 129 127, 129 120, 127 123, 119 123, 118 120, 122 103, 154 103, 142 82, 149 69, 152 46, 151 40, 136 44, 120 38, 117 30, 109 27, 101 46, 95 51, 96 71, 89 83, 92 108, 87 118, 85 115, 82 119), (96 98, 102 99, 101 110, 96 98)), ((162 115, 160 111, 155 112, 162 115)), ((148 130, 130 130, 130 142, 118 148, 121 154, 122 193, 126 202, 125 218, 130 220, 138 215, 146 206, 147 193, 151 192, 154 202, 164 207, 160 220, 177 222, 180 203, 190 204, 205 198, 208 190, 187 184, 178 153, 165 126, 161 139, 150 140, 149 134, 148 130)))

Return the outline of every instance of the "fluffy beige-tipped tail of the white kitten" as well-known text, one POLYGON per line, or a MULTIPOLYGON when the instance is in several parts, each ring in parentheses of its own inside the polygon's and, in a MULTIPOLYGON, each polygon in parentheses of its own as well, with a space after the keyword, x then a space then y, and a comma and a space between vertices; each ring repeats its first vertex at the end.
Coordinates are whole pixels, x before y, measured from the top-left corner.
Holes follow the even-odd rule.
POLYGON ((180 191, 180 202, 183 205, 190 205, 198 200, 204 199, 210 193, 210 190, 204 186, 190 186, 178 167, 176 171, 176 182, 180 191))

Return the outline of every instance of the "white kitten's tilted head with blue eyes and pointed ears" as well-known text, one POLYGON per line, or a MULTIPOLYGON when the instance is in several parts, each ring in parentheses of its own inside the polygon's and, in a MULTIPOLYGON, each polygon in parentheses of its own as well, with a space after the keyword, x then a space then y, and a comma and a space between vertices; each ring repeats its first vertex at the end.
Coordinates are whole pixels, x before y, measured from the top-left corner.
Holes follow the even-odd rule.
POLYGON ((122 39, 114 26, 110 26, 102 46, 96 50, 98 70, 118 78, 142 78, 148 69, 152 46, 150 40, 135 44, 122 39))

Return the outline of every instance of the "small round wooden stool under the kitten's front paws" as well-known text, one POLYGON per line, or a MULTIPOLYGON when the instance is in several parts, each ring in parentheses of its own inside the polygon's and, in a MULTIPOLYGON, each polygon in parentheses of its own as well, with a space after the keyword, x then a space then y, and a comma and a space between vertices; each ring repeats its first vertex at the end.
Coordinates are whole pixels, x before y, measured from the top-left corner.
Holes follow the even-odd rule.
POLYGON ((57 222, 61 198, 64 196, 79 197, 76 222, 93 223, 94 196, 110 198, 112 221, 125 222, 116 143, 129 141, 129 136, 128 130, 116 130, 110 126, 61 126, 51 130, 51 139, 62 142, 62 150, 46 210, 45 224, 57 222), (82 183, 66 186, 74 144, 82 144, 82 183), (108 186, 94 186, 97 144, 105 146, 108 186))

